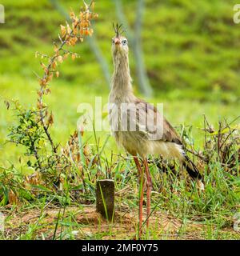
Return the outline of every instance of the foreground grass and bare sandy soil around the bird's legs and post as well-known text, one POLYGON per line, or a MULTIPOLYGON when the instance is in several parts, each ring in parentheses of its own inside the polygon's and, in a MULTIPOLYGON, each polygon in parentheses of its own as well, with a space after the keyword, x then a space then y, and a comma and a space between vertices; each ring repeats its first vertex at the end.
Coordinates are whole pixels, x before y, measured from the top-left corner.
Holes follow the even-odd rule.
MULTIPOLYGON (((116 215, 113 223, 97 214, 90 202, 86 205, 84 198, 83 203, 79 204, 81 193, 77 194, 77 198, 71 194, 70 202, 66 202, 67 196, 58 198, 53 190, 47 193, 38 190, 33 201, 1 209, 6 215, 6 235, 2 238, 133 238, 138 230, 138 175, 130 158, 126 158, 126 163, 119 160, 118 165, 124 170, 116 167, 111 172, 116 186, 116 215)), ((210 174, 205 176, 206 191, 199 194, 187 178, 166 175, 156 166, 150 166, 154 184, 154 211, 150 217, 149 234, 142 238, 240 238, 232 230, 232 215, 239 207, 239 187, 234 186, 234 176, 218 168, 218 164, 212 163, 209 168, 210 174)), ((94 202, 94 194, 90 193, 89 199, 94 202)))

